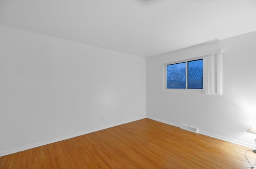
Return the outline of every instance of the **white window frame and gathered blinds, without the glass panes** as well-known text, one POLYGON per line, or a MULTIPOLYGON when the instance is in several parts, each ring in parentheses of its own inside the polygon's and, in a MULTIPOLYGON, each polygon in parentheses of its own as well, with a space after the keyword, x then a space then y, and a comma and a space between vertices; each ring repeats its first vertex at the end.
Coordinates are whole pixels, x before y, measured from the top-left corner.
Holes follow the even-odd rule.
POLYGON ((217 49, 200 57, 188 57, 178 61, 162 61, 163 65, 163 92, 187 94, 222 94, 222 49, 217 49), (203 89, 188 89, 188 61, 203 59, 203 89), (186 62, 186 89, 167 88, 167 65, 186 62))

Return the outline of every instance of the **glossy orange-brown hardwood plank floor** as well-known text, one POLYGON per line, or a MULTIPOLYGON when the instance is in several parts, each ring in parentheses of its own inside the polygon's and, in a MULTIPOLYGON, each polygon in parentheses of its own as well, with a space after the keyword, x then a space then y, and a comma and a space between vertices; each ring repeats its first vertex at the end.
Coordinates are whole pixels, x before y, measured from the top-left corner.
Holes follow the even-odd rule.
POLYGON ((246 169, 246 150, 146 118, 0 157, 0 169, 246 169))

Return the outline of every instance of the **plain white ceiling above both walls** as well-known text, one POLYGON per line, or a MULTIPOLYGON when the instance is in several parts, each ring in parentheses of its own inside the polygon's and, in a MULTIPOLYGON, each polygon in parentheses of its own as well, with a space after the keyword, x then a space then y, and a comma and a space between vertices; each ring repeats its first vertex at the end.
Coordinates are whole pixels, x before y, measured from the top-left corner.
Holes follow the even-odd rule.
POLYGON ((256 0, 0 0, 0 24, 148 57, 256 30, 256 0))

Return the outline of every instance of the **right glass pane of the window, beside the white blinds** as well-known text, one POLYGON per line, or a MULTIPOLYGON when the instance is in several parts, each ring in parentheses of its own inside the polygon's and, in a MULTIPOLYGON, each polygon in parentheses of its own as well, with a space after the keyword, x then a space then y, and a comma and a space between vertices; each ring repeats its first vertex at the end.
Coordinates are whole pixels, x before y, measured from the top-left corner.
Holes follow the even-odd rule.
POLYGON ((203 59, 188 61, 188 88, 203 88, 203 59))

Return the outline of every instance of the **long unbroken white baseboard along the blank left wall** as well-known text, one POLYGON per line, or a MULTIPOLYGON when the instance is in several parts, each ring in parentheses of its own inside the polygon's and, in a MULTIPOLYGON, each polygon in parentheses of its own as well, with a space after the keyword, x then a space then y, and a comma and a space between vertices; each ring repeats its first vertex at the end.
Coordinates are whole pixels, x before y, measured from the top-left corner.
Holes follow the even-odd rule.
POLYGON ((33 143, 33 144, 30 144, 30 145, 25 145, 25 146, 22 146, 22 147, 17 147, 17 148, 6 150, 6 151, 0 151, 0 157, 2 157, 4 155, 9 155, 9 154, 12 154, 12 153, 17 153, 17 152, 20 152, 20 151, 24 151, 24 150, 27 150, 27 149, 39 147, 39 146, 42 146, 42 145, 47 145, 47 144, 50 144, 50 143, 55 143, 55 142, 58 142, 58 141, 67 140, 67 139, 74 138, 74 137, 77 137, 77 136, 82 136, 84 134, 97 132, 97 131, 104 130, 104 129, 107 129, 107 128, 111 128, 111 127, 114 127, 114 126, 119 126, 121 124, 134 122, 136 120, 141 120, 141 119, 144 119, 144 118, 146 118, 146 116, 140 117, 140 118, 134 118, 134 119, 130 119, 130 120, 125 120, 125 121, 118 122, 118 123, 115 123, 115 124, 110 124, 110 125, 107 125, 107 126, 94 128, 94 129, 86 130, 86 131, 83 131, 83 132, 78 132, 78 133, 75 133, 75 134, 70 134, 68 136, 54 138, 54 139, 46 140, 46 141, 40 141, 38 143, 33 143))

